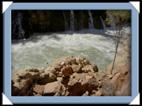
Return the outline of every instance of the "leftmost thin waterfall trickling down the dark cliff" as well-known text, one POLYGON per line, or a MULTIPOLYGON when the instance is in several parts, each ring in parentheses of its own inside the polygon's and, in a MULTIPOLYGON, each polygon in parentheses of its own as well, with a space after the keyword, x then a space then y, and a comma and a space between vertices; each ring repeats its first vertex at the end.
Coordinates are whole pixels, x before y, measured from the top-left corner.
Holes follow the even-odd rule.
POLYGON ((25 32, 24 32, 23 27, 22 27, 22 18, 23 18, 22 14, 18 13, 18 15, 17 15, 17 26, 18 26, 18 38, 20 38, 20 39, 25 38, 24 37, 25 32))

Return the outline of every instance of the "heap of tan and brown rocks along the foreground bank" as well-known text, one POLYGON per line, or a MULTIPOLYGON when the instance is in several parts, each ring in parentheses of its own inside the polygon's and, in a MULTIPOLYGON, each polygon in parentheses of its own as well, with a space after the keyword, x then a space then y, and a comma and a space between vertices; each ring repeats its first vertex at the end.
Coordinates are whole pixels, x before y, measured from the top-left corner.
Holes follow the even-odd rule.
POLYGON ((129 77, 128 70, 106 74, 84 57, 63 57, 46 69, 15 72, 12 78, 12 95, 128 96, 129 77))

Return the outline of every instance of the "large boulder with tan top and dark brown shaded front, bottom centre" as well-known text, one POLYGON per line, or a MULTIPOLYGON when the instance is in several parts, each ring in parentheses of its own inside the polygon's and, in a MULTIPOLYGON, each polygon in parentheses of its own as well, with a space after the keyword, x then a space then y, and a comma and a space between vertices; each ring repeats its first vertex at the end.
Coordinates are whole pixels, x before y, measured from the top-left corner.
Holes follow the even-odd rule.
POLYGON ((90 94, 92 90, 97 90, 97 88, 96 79, 93 75, 90 76, 87 73, 74 73, 68 82, 68 91, 71 96, 85 95, 86 91, 90 94))

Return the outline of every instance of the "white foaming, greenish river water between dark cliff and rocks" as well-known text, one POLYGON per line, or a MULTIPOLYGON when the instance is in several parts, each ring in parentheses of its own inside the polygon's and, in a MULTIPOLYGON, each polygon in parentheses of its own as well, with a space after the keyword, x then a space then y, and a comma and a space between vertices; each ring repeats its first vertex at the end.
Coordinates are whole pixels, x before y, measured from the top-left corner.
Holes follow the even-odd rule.
POLYGON ((91 33, 54 33, 12 44, 12 70, 47 67, 63 56, 84 56, 103 70, 115 51, 114 41, 91 33), (35 40, 36 39, 36 40, 35 40))

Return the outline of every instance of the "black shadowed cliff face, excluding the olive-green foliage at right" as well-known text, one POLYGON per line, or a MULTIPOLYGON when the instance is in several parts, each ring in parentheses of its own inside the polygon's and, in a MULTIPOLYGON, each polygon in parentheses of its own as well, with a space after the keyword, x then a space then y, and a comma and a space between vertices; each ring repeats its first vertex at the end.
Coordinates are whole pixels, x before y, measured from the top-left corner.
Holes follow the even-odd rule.
MULTIPOLYGON (((96 29, 102 29, 100 15, 105 17, 105 11, 91 11, 91 18, 96 29)), ((13 10, 12 38, 29 38, 32 33, 63 32, 89 28, 87 10, 13 10), (23 33, 21 33, 23 31, 23 33)))

